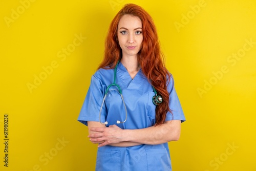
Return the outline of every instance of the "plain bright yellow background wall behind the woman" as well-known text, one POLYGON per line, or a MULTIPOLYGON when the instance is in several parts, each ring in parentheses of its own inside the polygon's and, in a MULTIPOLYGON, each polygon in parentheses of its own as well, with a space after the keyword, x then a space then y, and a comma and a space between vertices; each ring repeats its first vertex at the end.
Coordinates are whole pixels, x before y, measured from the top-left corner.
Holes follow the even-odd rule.
POLYGON ((0 2, 1 170, 94 170, 97 147, 76 120, 106 31, 126 3, 154 18, 187 119, 169 143, 173 170, 256 170, 255 1, 28 2, 0 2))

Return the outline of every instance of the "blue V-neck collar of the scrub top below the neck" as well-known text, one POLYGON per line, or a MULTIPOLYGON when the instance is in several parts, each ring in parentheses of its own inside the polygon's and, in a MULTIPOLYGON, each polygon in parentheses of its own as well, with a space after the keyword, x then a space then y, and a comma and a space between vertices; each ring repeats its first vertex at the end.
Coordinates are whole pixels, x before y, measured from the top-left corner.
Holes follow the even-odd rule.
POLYGON ((117 74, 121 78, 122 83, 124 84, 124 87, 127 89, 139 90, 143 82, 146 80, 146 77, 142 73, 141 69, 132 79, 129 72, 126 70, 126 68, 122 65, 121 62, 118 63, 117 74))

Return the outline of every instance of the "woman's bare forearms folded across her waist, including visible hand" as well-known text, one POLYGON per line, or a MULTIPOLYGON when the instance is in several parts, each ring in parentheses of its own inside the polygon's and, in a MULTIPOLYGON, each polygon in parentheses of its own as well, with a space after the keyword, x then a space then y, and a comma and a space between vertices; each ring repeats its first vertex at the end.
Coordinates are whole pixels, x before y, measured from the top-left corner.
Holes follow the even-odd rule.
POLYGON ((166 121, 144 129, 122 130, 117 125, 106 127, 99 122, 88 122, 89 138, 92 143, 112 146, 134 146, 139 144, 161 144, 177 141, 180 137, 181 121, 166 121))

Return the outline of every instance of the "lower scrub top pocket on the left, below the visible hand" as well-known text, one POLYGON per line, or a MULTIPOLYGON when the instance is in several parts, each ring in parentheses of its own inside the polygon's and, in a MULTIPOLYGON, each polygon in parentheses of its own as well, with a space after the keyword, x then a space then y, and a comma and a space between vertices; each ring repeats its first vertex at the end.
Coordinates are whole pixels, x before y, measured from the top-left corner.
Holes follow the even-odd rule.
POLYGON ((98 151, 96 171, 121 170, 120 151, 98 151))

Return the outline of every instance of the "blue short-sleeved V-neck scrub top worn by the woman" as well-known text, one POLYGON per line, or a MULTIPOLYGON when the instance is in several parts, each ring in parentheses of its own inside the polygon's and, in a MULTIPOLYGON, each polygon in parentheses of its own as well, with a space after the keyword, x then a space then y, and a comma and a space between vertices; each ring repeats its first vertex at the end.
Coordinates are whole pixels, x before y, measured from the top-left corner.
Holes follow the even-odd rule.
MULTIPOLYGON (((113 83, 114 69, 99 69, 91 79, 91 85, 83 102, 78 121, 87 125, 88 121, 99 122, 99 111, 106 88, 113 83)), ((155 95, 150 82, 142 73, 137 73, 134 79, 119 62, 116 72, 116 83, 120 86, 127 108, 127 120, 122 99, 117 91, 111 91, 105 99, 101 111, 101 122, 116 124, 121 129, 143 129, 153 126, 156 122, 156 105, 152 102, 155 95)), ((117 87, 112 86, 110 90, 117 87)), ((185 121, 180 101, 174 88, 173 77, 167 84, 169 92, 169 107, 172 113, 166 114, 166 121, 185 121)), ((172 170, 167 143, 158 145, 142 144, 131 147, 115 147, 105 145, 98 148, 96 170, 172 170)))

